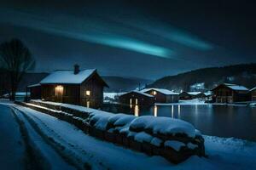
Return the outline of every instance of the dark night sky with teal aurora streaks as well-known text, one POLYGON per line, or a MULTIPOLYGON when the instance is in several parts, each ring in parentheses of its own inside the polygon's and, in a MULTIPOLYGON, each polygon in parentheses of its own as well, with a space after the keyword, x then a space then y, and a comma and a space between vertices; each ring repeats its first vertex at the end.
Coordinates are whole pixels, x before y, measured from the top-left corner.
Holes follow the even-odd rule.
POLYGON ((25 42, 35 71, 78 63, 102 75, 155 79, 256 62, 256 3, 211 2, 1 1, 0 42, 25 42))

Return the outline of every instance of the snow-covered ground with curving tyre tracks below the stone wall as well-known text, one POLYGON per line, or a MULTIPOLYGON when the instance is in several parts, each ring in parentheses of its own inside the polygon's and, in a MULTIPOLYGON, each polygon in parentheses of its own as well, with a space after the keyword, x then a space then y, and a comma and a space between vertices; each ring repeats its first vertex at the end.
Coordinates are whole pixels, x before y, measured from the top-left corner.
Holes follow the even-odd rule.
POLYGON ((246 140, 204 136, 208 158, 192 156, 174 165, 160 156, 95 139, 67 122, 20 105, 0 105, 0 111, 3 169, 20 169, 29 163, 23 159, 26 145, 32 146, 38 160, 44 160, 38 167, 53 169, 256 169, 256 143, 246 140), (18 124, 25 134, 20 135, 18 124))

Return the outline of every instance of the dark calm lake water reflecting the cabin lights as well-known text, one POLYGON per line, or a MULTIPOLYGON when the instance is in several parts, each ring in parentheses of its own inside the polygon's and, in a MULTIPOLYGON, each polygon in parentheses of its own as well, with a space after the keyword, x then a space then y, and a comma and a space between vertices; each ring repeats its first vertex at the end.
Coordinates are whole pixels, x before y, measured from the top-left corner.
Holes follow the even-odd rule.
POLYGON ((136 116, 168 116, 190 122, 201 133, 256 141, 256 107, 246 105, 105 105, 102 110, 136 116))

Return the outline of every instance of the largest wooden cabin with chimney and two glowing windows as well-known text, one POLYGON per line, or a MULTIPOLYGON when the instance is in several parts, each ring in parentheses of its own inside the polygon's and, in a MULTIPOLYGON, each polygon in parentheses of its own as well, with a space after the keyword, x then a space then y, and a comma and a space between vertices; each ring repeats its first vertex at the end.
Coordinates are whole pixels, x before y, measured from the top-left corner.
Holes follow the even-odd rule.
POLYGON ((103 102, 103 88, 108 84, 99 76, 96 69, 54 71, 41 82, 41 99, 73 105, 99 108, 103 102))

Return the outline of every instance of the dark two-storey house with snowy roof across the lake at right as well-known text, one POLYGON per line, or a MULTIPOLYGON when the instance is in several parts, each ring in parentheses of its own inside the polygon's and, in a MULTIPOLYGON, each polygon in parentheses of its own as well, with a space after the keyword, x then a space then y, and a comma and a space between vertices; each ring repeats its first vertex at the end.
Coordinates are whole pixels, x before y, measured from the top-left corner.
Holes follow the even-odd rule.
POLYGON ((247 101, 247 93, 248 89, 243 86, 223 83, 212 89, 212 98, 216 103, 234 103, 247 101))

